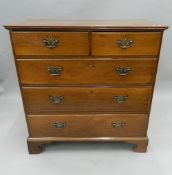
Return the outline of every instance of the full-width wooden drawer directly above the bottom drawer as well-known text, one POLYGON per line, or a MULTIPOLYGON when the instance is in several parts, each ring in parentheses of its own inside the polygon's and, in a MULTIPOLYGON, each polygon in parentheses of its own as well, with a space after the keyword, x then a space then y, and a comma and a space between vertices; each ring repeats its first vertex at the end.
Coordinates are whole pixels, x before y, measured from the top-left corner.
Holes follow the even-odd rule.
POLYGON ((71 111, 147 112, 151 87, 23 87, 23 98, 28 113, 71 111))

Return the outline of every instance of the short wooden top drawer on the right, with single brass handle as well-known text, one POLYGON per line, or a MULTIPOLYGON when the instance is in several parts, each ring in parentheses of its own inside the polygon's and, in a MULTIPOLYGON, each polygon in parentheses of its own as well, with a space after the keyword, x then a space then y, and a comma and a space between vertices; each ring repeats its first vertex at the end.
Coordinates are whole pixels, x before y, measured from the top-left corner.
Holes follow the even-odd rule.
POLYGON ((157 56, 160 32, 93 32, 93 55, 157 56))

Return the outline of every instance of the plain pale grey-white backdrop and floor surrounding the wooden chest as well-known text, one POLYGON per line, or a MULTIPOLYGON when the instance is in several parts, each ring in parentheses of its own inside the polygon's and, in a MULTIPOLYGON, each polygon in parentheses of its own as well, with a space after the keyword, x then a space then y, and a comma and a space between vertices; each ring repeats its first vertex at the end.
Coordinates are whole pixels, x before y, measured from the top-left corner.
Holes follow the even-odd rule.
POLYGON ((28 18, 144 18, 171 26, 171 15, 171 0, 0 0, 0 174, 170 175, 171 28, 165 32, 162 43, 148 153, 133 153, 131 146, 123 144, 60 144, 48 147, 43 154, 30 156, 10 40, 2 25, 28 18))

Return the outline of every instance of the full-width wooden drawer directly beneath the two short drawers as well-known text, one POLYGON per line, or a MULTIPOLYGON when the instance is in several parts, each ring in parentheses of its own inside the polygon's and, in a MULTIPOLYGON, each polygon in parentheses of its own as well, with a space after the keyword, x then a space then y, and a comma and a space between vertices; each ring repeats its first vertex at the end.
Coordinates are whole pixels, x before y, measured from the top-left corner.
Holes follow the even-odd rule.
POLYGON ((18 59, 22 84, 151 84, 156 60, 27 60, 18 59))

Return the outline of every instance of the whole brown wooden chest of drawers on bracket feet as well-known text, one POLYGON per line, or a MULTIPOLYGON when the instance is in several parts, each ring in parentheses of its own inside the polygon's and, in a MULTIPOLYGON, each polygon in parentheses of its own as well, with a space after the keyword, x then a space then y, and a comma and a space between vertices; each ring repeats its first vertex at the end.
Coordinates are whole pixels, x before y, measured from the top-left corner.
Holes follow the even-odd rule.
POLYGON ((166 26, 142 20, 27 20, 5 27, 29 153, 60 141, 121 141, 146 151, 166 26))

